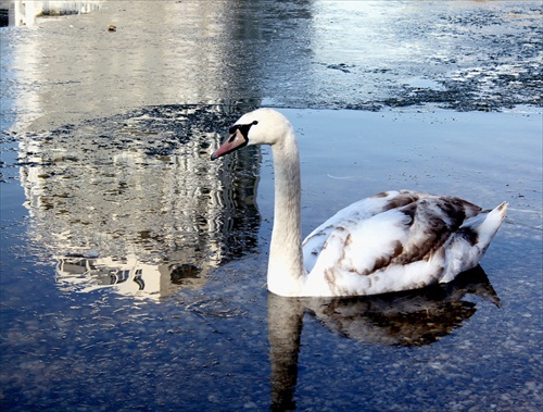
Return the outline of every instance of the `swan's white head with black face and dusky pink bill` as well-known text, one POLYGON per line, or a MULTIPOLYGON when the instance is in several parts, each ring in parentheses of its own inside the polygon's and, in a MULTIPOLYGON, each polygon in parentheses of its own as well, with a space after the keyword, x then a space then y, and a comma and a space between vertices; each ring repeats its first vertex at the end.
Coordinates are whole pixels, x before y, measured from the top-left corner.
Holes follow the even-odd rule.
POLYGON ((211 155, 212 160, 250 145, 275 145, 292 133, 290 122, 273 109, 257 109, 243 114, 230 127, 225 142, 211 155))

